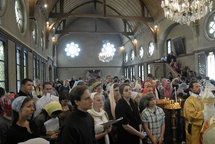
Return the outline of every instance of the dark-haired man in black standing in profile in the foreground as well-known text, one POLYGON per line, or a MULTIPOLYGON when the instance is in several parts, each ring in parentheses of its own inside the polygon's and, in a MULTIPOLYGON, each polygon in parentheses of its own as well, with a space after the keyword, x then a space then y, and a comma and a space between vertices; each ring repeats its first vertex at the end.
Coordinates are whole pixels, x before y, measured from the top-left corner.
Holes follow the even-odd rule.
POLYGON ((75 110, 68 115, 60 134, 61 144, 95 144, 94 120, 87 112, 92 108, 92 99, 86 86, 72 89, 71 101, 75 110))

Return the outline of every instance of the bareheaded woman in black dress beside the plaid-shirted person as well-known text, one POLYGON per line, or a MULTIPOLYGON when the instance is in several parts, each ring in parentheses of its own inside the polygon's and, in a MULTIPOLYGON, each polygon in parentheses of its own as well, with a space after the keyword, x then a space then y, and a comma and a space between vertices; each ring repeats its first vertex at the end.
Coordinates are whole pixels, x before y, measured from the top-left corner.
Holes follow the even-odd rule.
POLYGON ((131 87, 122 84, 119 87, 122 98, 116 105, 116 118, 123 117, 117 123, 118 139, 120 144, 139 144, 142 143, 144 134, 137 104, 131 99, 131 87))

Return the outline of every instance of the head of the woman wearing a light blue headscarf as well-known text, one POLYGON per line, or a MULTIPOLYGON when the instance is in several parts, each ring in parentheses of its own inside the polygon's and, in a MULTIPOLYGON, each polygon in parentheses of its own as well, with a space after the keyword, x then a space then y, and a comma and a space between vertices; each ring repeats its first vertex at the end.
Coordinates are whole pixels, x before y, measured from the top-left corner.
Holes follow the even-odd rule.
POLYGON ((13 101, 12 110, 13 124, 16 124, 20 118, 27 120, 32 117, 35 110, 33 100, 26 96, 19 96, 13 101))

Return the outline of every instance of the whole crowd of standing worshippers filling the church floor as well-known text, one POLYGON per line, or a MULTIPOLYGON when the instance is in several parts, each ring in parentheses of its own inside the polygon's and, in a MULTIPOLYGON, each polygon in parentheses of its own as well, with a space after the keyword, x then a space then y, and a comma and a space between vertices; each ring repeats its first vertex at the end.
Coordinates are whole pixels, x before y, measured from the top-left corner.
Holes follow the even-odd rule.
POLYGON ((144 82, 108 75, 43 86, 24 79, 17 94, 0 88, 0 144, 163 144, 165 113, 156 101, 175 94, 185 101, 186 142, 199 144, 202 83, 151 74, 144 82))

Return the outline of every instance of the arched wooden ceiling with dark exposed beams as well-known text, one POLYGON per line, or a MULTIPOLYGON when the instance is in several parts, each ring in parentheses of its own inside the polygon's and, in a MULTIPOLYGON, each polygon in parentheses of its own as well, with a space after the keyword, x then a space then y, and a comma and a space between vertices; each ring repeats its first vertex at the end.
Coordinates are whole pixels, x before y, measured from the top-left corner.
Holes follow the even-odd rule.
POLYGON ((152 30, 153 22, 163 15, 160 0, 38 0, 48 4, 50 30, 65 34, 77 18, 103 19, 117 33, 129 38, 142 26, 152 30))

